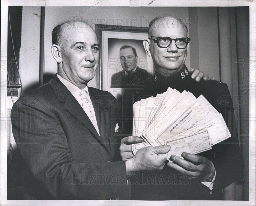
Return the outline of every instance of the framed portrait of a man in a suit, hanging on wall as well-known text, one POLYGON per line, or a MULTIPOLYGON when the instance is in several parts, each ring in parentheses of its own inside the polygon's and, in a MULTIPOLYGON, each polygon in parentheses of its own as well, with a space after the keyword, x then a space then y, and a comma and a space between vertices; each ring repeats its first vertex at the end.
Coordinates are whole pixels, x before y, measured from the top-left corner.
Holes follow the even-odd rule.
POLYGON ((152 58, 147 56, 143 46, 143 40, 148 38, 148 27, 95 24, 95 32, 100 44, 96 87, 117 97, 124 88, 146 86, 147 81, 141 80, 154 73, 152 58), (129 69, 133 75, 128 73, 129 69))

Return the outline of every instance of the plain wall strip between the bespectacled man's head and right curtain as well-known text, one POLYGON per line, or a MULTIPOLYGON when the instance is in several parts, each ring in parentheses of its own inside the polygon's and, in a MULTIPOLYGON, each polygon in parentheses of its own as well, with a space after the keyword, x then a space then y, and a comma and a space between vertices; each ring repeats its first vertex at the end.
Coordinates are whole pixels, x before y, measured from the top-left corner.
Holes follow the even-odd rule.
POLYGON ((216 7, 188 7, 191 67, 220 80, 218 17, 216 7))

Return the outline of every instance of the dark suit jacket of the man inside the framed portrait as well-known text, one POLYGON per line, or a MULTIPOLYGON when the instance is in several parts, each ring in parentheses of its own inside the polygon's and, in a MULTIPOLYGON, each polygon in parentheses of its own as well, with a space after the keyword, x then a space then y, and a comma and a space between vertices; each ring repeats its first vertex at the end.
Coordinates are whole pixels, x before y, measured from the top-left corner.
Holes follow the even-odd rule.
POLYGON ((125 71, 122 70, 112 75, 111 88, 127 88, 129 86, 146 86, 143 80, 151 78, 152 75, 145 69, 136 67, 135 72, 130 77, 125 77, 125 71), (143 82, 143 84, 141 84, 143 82))

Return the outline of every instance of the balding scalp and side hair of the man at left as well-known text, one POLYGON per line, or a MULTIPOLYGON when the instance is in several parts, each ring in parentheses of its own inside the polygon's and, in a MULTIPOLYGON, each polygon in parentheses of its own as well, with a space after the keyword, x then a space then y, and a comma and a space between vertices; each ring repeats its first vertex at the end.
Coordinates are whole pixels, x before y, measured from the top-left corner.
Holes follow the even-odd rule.
POLYGON ((57 25, 52 30, 52 44, 56 44, 63 47, 66 40, 65 30, 68 30, 70 28, 77 28, 77 29, 88 28, 89 30, 93 31, 92 27, 89 26, 85 21, 76 21, 76 20, 66 21, 62 24, 57 25))

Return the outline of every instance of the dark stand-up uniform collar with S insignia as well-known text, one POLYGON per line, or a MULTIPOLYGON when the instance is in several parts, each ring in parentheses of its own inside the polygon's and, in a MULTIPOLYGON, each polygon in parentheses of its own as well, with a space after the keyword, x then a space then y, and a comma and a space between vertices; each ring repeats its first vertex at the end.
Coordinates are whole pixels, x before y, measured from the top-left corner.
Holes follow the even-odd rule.
POLYGON ((184 64, 184 66, 182 67, 182 69, 180 71, 178 71, 175 74, 171 74, 169 76, 163 76, 161 74, 158 74, 155 71, 154 74, 154 78, 153 81, 157 84, 157 85, 161 85, 161 87, 173 87, 174 85, 184 82, 185 80, 187 80, 189 78, 190 74, 188 72, 188 69, 186 67, 186 65, 184 64))

